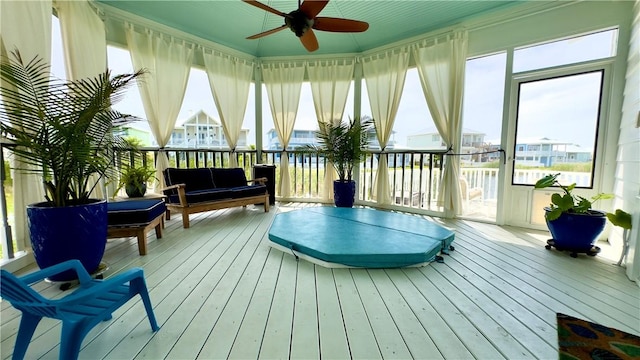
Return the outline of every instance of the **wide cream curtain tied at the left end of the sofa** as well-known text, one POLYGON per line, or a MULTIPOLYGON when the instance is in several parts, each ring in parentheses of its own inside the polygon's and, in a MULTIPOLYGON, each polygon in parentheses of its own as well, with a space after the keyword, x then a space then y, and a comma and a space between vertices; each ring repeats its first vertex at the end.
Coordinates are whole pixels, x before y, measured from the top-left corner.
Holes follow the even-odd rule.
POLYGON ((160 147, 155 186, 155 191, 159 192, 165 187, 162 171, 169 167, 169 158, 163 148, 178 119, 194 49, 192 44, 151 30, 137 32, 132 24, 126 24, 125 28, 133 67, 148 71, 138 81, 138 89, 151 133, 160 147))

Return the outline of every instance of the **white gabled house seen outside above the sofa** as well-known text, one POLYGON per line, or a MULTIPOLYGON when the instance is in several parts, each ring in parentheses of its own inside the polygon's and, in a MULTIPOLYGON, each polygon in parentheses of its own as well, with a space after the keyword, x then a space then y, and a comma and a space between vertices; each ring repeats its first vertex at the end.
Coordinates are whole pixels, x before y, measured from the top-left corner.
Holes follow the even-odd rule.
MULTIPOLYGON (((246 149, 248 129, 242 129, 238 139, 237 148, 246 149)), ((189 116, 180 126, 176 126, 171 132, 171 138, 167 147, 177 148, 229 148, 220 121, 204 110, 199 110, 189 116)))

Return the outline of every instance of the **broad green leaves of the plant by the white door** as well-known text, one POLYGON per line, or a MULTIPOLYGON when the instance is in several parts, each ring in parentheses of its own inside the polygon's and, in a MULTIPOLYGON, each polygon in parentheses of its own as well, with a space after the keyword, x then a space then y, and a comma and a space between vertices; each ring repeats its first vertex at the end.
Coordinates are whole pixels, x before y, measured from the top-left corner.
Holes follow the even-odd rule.
POLYGON ((573 195, 572 191, 575 189, 576 184, 573 183, 569 186, 565 186, 560 184, 557 180, 560 173, 557 174, 549 174, 541 179, 539 179, 536 184, 536 189, 543 189, 551 186, 558 186, 564 194, 553 194, 551 195, 551 204, 550 209, 545 214, 545 217, 549 221, 556 220, 562 215, 562 213, 573 213, 573 214, 588 214, 591 211, 591 207, 593 203, 601 200, 601 199, 611 199, 613 198, 613 194, 605 194, 600 193, 591 199, 586 199, 579 195, 573 195))

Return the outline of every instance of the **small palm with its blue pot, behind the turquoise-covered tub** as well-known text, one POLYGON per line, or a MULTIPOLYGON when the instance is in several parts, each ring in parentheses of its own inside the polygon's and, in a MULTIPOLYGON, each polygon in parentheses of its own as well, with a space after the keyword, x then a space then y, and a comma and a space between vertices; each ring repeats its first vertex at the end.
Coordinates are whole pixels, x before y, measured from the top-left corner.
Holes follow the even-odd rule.
POLYGON ((367 133, 373 127, 369 117, 349 119, 340 123, 320 123, 316 131, 318 146, 309 146, 330 162, 338 173, 333 182, 333 198, 338 207, 352 207, 356 186, 353 168, 364 160, 367 133))

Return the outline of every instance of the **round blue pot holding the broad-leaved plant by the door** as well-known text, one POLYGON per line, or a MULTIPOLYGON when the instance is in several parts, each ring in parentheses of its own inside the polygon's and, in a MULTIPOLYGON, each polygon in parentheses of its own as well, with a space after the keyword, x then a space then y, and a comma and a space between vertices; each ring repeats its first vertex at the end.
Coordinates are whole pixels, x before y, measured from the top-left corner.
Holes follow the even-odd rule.
MULTIPOLYGON (((545 208, 549 212, 551 209, 545 208)), ((589 252, 607 224, 607 216, 602 211, 591 210, 588 214, 563 213, 547 227, 559 250, 589 252)))

